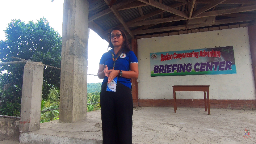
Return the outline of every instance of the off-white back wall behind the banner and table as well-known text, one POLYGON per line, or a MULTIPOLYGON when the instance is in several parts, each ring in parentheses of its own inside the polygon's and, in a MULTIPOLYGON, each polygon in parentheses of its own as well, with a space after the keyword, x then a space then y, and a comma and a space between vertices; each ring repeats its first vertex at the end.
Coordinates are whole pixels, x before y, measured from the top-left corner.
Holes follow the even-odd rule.
MULTIPOLYGON (((248 29, 240 27, 138 39, 139 99, 173 99, 172 85, 210 85, 210 99, 255 99, 248 29), (150 53, 233 46, 236 74, 150 76, 150 53)), ((178 99, 202 99, 203 92, 177 92, 178 99)))

